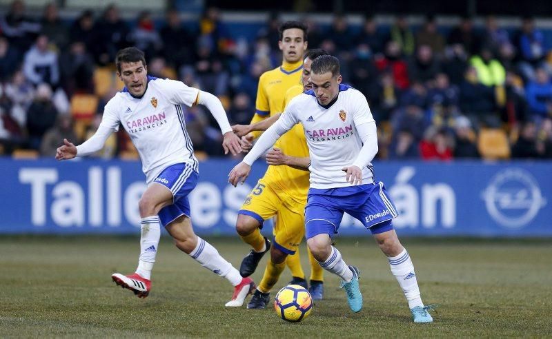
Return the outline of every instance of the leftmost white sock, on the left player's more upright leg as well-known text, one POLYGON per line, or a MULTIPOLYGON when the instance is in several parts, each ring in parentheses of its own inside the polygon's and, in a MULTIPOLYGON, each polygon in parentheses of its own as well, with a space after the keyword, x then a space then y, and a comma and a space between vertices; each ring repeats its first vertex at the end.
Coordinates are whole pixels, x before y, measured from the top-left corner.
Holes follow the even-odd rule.
POLYGON ((159 238, 161 237, 161 226, 158 216, 146 216, 140 220, 140 257, 136 273, 144 278, 151 279, 151 270, 155 263, 159 238))

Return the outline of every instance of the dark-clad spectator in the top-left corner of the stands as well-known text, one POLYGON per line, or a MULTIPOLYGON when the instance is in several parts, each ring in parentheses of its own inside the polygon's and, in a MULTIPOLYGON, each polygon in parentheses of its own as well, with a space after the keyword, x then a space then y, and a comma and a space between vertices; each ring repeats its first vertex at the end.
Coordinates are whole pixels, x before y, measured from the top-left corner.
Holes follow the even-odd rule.
POLYGON ((40 24, 26 17, 23 1, 14 0, 6 16, 0 19, 0 32, 6 35, 14 48, 23 53, 36 39, 40 24))

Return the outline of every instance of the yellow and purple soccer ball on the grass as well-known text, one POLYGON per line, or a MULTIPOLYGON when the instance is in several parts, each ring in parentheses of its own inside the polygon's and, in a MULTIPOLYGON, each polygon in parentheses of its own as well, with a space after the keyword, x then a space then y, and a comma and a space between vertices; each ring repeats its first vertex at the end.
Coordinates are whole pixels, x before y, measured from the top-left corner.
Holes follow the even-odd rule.
POLYGON ((311 314, 313 298, 304 287, 287 285, 276 294, 274 309, 280 318, 299 322, 311 314))

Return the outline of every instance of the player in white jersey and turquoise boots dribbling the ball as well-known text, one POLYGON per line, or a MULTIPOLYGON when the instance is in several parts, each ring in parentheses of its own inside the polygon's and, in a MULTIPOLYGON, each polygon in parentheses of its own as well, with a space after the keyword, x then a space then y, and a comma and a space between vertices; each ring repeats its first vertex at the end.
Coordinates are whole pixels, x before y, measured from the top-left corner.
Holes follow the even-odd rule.
POLYGON ((344 212, 371 231, 387 256, 391 273, 404 291, 414 322, 432 322, 420 298, 414 266, 401 245, 391 220, 395 206, 383 183, 374 181, 371 161, 377 153, 375 121, 364 95, 342 85, 339 61, 319 56, 311 65, 313 90, 296 96, 284 114, 259 138, 249 154, 229 174, 228 181, 243 183, 251 164, 297 123, 304 126, 311 165, 311 188, 305 207, 308 248, 320 265, 342 280, 349 307, 362 309, 356 267, 346 265, 332 246, 344 212))

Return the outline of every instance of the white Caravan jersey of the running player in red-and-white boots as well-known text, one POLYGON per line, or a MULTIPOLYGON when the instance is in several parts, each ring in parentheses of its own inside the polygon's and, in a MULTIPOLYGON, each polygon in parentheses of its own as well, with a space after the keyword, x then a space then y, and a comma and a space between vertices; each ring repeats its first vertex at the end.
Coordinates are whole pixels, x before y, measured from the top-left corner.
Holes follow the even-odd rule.
POLYGON ((181 81, 148 76, 141 98, 125 88, 107 103, 101 124, 113 131, 123 125, 138 150, 148 184, 176 163, 188 163, 199 172, 181 107, 191 107, 198 94, 199 90, 181 81))

